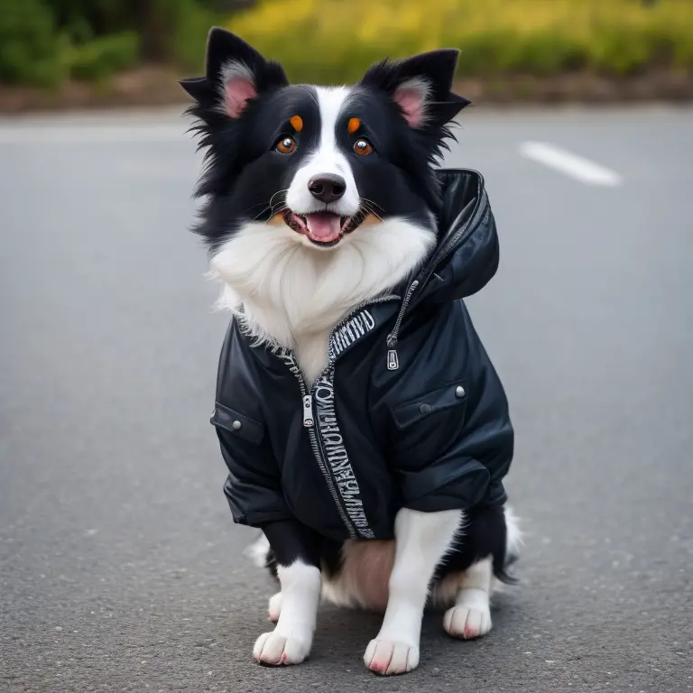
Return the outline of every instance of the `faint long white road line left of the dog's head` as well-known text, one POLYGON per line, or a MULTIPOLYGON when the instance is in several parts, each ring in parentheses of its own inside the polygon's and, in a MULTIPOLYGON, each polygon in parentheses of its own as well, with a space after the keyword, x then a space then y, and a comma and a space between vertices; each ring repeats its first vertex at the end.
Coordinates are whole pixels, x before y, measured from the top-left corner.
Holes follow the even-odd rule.
POLYGON ((2 126, 0 144, 171 142, 190 138, 180 125, 2 126))

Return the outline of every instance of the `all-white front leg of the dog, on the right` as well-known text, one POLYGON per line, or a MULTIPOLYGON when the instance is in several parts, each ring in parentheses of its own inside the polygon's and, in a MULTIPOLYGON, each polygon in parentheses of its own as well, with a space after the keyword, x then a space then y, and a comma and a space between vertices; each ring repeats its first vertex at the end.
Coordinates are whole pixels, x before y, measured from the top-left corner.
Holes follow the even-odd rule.
POLYGON ((420 513, 403 508, 397 513, 387 609, 380 633, 365 651, 368 669, 378 674, 403 674, 416 669, 430 580, 461 520, 459 510, 420 513))

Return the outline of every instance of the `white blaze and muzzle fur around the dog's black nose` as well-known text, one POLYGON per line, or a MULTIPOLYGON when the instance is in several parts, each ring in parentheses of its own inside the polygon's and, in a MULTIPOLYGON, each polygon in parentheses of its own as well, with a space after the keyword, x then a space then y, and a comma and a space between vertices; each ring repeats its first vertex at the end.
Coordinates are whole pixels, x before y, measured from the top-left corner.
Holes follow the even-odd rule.
POLYGON ((331 203, 328 209, 341 217, 352 217, 359 208, 358 189, 347 157, 337 146, 337 120, 348 103, 350 91, 346 87, 315 89, 321 123, 318 148, 296 172, 286 195, 286 204, 297 214, 309 214, 325 209, 325 204, 310 194, 308 183, 311 178, 321 173, 332 173, 346 181, 347 190, 344 196, 331 203))

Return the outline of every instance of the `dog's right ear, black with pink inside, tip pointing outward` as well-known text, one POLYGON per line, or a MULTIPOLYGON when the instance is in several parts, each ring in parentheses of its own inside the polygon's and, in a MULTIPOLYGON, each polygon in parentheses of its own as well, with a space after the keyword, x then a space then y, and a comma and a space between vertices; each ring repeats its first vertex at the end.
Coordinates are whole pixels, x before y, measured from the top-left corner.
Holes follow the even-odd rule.
POLYGON ((451 91, 458 57, 455 49, 440 49, 383 60, 365 73, 361 84, 390 94, 411 127, 440 127, 471 103, 451 91))

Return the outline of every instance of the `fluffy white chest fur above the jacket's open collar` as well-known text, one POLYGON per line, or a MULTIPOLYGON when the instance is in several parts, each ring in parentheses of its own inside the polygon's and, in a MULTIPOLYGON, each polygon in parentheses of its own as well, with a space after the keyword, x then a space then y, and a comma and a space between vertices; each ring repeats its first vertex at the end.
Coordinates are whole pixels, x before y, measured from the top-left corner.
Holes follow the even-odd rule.
POLYGON ((252 222, 212 258, 222 308, 243 305, 256 343, 293 350, 306 382, 328 363, 328 337, 357 305, 402 282, 429 253, 433 233, 401 218, 357 229, 320 250, 288 228, 252 222))

